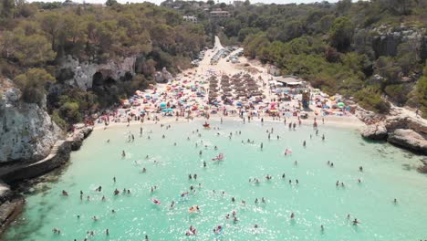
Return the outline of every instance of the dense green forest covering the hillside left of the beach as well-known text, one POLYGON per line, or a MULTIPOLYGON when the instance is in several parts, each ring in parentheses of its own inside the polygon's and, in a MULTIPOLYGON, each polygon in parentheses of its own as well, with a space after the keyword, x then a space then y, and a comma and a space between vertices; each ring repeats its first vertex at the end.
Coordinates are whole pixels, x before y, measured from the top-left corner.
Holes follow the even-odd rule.
POLYGON ((48 111, 63 128, 146 88, 156 70, 189 68, 206 39, 203 25, 148 3, 0 1, 0 77, 13 79, 26 102, 42 105, 47 94, 48 111), (139 68, 133 76, 85 91, 63 84, 73 74, 58 68, 68 56, 97 64, 135 57, 139 68), (52 85, 60 86, 47 91, 52 85))

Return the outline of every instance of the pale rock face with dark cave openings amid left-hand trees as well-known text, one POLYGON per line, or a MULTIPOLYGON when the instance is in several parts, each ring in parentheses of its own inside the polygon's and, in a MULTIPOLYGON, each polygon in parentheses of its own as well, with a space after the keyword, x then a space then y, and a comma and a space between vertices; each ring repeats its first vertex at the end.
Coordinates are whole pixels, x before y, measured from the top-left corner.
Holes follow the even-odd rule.
POLYGON ((87 90, 92 88, 94 81, 118 80, 125 78, 126 75, 133 76, 135 62, 136 57, 129 57, 109 60, 105 64, 80 63, 78 59, 68 56, 60 65, 59 77, 69 86, 87 90))

